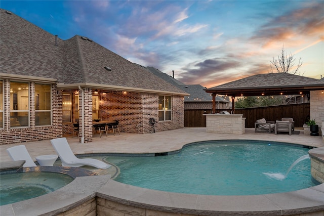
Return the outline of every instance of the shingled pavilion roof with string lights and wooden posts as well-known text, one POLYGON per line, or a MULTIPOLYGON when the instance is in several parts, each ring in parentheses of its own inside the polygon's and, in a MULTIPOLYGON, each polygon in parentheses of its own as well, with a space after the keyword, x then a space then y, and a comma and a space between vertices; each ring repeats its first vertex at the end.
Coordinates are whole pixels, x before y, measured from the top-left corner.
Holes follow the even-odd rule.
POLYGON ((257 74, 228 82, 217 87, 205 89, 213 97, 212 113, 216 113, 216 95, 232 97, 234 111, 235 97, 309 95, 310 91, 324 91, 324 80, 289 73, 257 74))

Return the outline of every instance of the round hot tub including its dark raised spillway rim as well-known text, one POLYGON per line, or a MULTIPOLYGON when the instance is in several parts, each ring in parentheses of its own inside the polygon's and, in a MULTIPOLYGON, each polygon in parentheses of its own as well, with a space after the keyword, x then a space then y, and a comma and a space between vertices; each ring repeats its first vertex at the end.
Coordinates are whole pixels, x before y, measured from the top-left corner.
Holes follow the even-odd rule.
POLYGON ((25 167, 1 172, 0 205, 42 196, 68 185, 76 177, 94 175, 86 169, 59 166, 25 167))

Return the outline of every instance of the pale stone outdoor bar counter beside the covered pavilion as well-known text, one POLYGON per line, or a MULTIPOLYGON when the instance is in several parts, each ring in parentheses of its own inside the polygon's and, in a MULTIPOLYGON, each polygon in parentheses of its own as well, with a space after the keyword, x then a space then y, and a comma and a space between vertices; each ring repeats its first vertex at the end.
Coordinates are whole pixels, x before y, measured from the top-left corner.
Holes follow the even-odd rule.
POLYGON ((203 114, 206 115, 207 133, 245 134, 243 114, 203 114))

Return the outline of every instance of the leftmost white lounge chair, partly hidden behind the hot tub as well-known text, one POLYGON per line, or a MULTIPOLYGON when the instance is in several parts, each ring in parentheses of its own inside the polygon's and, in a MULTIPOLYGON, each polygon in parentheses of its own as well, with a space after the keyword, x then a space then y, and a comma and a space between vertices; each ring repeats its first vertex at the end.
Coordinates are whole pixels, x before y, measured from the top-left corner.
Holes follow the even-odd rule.
POLYGON ((10 147, 7 149, 7 153, 12 160, 25 160, 23 167, 37 166, 30 157, 25 145, 10 147))

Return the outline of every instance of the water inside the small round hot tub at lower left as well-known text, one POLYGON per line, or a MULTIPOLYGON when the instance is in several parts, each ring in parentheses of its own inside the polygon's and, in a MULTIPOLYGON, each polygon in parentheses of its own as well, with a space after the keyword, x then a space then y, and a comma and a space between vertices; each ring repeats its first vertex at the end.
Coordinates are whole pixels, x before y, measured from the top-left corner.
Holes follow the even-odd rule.
POLYGON ((51 193, 74 179, 57 172, 21 172, 0 175, 0 205, 51 193))

